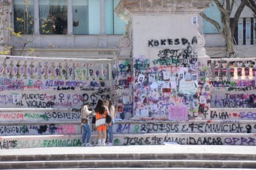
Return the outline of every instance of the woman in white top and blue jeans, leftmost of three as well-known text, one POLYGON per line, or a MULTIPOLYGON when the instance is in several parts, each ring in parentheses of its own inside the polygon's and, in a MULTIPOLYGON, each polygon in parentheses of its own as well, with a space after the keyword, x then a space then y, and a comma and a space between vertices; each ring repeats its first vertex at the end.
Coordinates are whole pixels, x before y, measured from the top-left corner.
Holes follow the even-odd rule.
POLYGON ((91 126, 90 126, 90 115, 92 111, 89 111, 90 104, 86 103, 81 109, 81 123, 82 123, 82 146, 92 146, 89 141, 91 137, 91 126), (86 138, 86 144, 85 144, 85 138, 86 138))

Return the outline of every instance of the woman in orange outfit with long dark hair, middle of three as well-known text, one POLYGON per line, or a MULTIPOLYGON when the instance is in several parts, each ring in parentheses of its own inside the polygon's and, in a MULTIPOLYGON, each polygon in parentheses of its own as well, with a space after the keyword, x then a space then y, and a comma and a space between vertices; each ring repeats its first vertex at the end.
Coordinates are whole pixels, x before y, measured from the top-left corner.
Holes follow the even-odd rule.
POLYGON ((98 146, 105 146, 106 140, 106 131, 107 131, 107 124, 106 124, 106 117, 109 114, 107 106, 104 106, 104 102, 102 99, 98 100, 98 103, 95 107, 96 112, 96 128, 98 132, 98 146), (103 137, 102 137, 103 136, 103 137))

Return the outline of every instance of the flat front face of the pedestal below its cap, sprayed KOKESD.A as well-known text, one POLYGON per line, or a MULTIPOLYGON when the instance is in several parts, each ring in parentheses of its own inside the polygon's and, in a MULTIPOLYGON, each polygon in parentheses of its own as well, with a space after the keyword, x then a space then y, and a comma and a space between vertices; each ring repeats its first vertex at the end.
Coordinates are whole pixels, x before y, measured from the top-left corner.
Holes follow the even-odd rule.
MULTIPOLYGON (((132 28, 134 114, 170 120, 169 106, 180 112, 198 112, 198 101, 193 97, 197 81, 191 81, 191 75, 197 77, 198 57, 193 14, 135 14, 132 28)), ((187 120, 187 116, 177 118, 187 120)))

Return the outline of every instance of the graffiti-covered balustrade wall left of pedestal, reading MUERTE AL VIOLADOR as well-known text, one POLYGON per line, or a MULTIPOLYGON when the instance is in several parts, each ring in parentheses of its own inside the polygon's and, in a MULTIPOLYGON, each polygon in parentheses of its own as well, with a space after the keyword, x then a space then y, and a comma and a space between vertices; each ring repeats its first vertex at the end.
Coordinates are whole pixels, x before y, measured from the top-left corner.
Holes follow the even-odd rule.
POLYGON ((93 106, 107 98, 110 61, 54 60, 6 56, 0 59, 0 105, 24 108, 93 106))

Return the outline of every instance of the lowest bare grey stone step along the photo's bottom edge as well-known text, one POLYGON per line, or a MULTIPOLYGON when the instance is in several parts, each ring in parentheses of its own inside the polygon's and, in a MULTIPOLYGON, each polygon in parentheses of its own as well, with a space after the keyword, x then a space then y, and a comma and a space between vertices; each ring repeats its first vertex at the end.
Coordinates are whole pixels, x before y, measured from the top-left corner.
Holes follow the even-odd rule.
POLYGON ((56 160, 2 161, 1 169, 17 168, 255 168, 256 160, 56 160))

